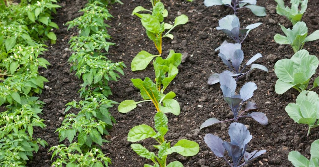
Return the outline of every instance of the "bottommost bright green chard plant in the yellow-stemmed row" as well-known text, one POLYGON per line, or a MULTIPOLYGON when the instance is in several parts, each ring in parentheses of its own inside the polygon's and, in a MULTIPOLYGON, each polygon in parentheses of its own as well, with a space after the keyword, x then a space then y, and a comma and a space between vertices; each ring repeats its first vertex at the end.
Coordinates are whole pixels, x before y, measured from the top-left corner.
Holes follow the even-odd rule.
POLYGON ((182 156, 197 155, 199 152, 199 145, 195 141, 182 139, 171 147, 171 142, 165 140, 164 135, 168 131, 168 119, 164 113, 158 112, 154 117, 154 122, 157 133, 149 125, 138 125, 133 127, 127 136, 127 140, 130 142, 153 138, 159 143, 159 145, 153 145, 159 150, 157 156, 141 144, 131 144, 131 148, 139 156, 150 159, 154 163, 154 165, 145 164, 144 167, 183 167, 183 164, 179 161, 174 161, 166 165, 167 156, 172 153, 178 153, 182 156))

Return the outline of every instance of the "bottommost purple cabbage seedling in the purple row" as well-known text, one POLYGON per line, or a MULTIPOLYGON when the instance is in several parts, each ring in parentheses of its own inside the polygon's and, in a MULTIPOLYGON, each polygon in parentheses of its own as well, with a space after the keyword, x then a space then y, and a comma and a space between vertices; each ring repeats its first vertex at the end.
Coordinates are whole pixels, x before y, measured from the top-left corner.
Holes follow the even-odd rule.
POLYGON ((230 124, 228 134, 230 136, 230 142, 223 141, 218 136, 210 133, 205 135, 204 141, 215 156, 223 157, 230 167, 247 165, 266 152, 266 150, 255 150, 251 153, 246 151, 248 143, 253 137, 250 135, 247 127, 241 123, 233 122, 230 124), (228 155, 232 157, 233 163, 230 163, 226 159, 225 149, 228 151, 228 155), (245 161, 240 164, 242 158, 244 158, 245 161))

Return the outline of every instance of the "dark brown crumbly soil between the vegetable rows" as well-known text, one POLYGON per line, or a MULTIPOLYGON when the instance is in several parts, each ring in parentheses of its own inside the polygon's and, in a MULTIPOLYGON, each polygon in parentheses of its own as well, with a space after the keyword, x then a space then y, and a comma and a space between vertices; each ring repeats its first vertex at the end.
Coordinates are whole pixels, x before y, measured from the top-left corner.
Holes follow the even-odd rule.
MULTIPOLYGON (((152 65, 149 65, 145 71, 131 72, 130 62, 141 50, 154 54, 157 51, 153 43, 147 38, 140 19, 130 14, 136 6, 141 5, 150 8, 151 4, 145 0, 123 0, 122 2, 124 5, 114 4, 109 9, 114 16, 114 19, 108 21, 108 24, 112 26, 109 32, 113 37, 112 42, 117 43, 117 46, 110 48, 108 56, 113 61, 124 61, 128 68, 125 69, 125 76, 119 82, 111 83, 113 96, 110 99, 117 102, 126 99, 139 101, 141 100, 139 91, 132 86, 130 79, 146 76, 154 78, 154 71, 152 65)), ((74 74, 69 74, 67 58, 70 56, 70 52, 64 50, 69 48, 67 42, 75 32, 66 31, 66 27, 63 27, 62 24, 77 17, 80 14, 77 11, 85 3, 84 0, 67 0, 61 3, 63 8, 58 10, 55 19, 61 27, 60 30, 56 31, 57 44, 51 46, 44 56, 51 63, 51 66, 48 70, 42 70, 42 72, 50 80, 47 86, 52 89, 43 91, 41 95, 41 99, 47 102, 43 108, 44 115, 42 116, 43 119, 47 120, 47 128, 44 130, 37 129, 34 135, 47 140, 49 146, 58 144, 58 134, 54 132, 63 120, 64 105, 73 99, 79 100, 77 90, 81 81, 74 77, 74 74)), ((178 26, 172 31, 174 40, 166 39, 163 41, 164 55, 167 55, 169 50, 173 49, 176 52, 183 53, 186 57, 185 62, 179 66, 179 74, 173 81, 174 83, 169 87, 177 94, 176 100, 181 105, 181 114, 177 117, 168 114, 170 130, 166 139, 172 140, 174 144, 179 139, 187 138, 197 141, 201 148, 197 156, 185 158, 173 154, 169 161, 179 160, 184 166, 189 167, 227 166, 224 160, 213 155, 204 143, 203 137, 207 133, 212 133, 220 136, 223 140, 228 140, 230 122, 202 131, 199 131, 199 126, 208 118, 225 120, 232 117, 229 114, 228 105, 222 98, 219 85, 208 85, 207 79, 212 72, 222 72, 226 69, 226 66, 218 57, 218 52, 215 52, 214 49, 224 40, 232 41, 225 34, 216 30, 215 27, 218 26, 219 19, 227 14, 232 14, 233 11, 224 6, 205 7, 203 2, 199 0, 192 3, 180 0, 165 1, 164 4, 169 12, 166 22, 174 21, 178 11, 189 16, 189 23, 178 26)), ((287 159, 289 151, 297 150, 309 157, 310 144, 319 138, 319 133, 318 129, 313 129, 307 138, 307 126, 294 123, 286 114, 284 108, 288 103, 295 102, 298 95, 297 91, 289 90, 284 95, 278 95, 274 92, 274 85, 277 80, 273 72, 274 64, 279 59, 291 57, 293 50, 289 45, 275 43, 273 36, 281 33, 278 23, 285 27, 292 26, 286 18, 276 14, 276 3, 274 1, 259 0, 258 4, 266 7, 266 17, 256 17, 246 9, 242 9, 238 13, 242 27, 256 22, 263 23, 256 30, 250 32, 249 37, 243 42, 242 48, 246 61, 256 53, 261 53, 263 58, 260 59, 259 63, 267 66, 270 72, 254 70, 238 83, 238 87, 241 87, 247 81, 253 81, 258 85, 252 101, 257 103, 261 112, 267 114, 269 124, 263 126, 250 118, 241 119, 239 122, 251 126, 249 131, 253 135, 253 139, 248 151, 254 149, 267 150, 267 153, 249 166, 292 166, 287 159)), ((307 23, 309 33, 318 29, 318 5, 318 1, 310 1, 302 19, 307 23)), ((313 55, 318 55, 318 44, 319 41, 308 42, 304 49, 307 49, 313 55)), ((111 166, 140 167, 144 163, 151 164, 151 161, 137 156, 130 148, 131 143, 126 140, 126 136, 133 126, 140 124, 153 125, 155 108, 152 103, 142 103, 142 105, 143 107, 138 107, 128 114, 118 113, 117 106, 111 110, 112 115, 116 118, 117 125, 114 125, 113 129, 110 130, 112 142, 105 144, 102 148, 113 160, 111 166)), ((153 140, 145 140, 142 144, 155 151, 152 147, 155 144, 153 140)), ((51 164, 51 153, 48 153, 48 148, 41 148, 39 153, 35 154, 29 166, 49 166, 51 164)))

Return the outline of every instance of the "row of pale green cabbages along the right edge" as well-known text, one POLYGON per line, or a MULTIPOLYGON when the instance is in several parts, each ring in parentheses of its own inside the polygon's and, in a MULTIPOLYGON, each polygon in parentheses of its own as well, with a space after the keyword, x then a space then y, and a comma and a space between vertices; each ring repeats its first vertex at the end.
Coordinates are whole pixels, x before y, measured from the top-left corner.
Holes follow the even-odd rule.
MULTIPOLYGON (((319 60, 302 48, 305 42, 319 39, 319 30, 308 35, 308 27, 305 22, 301 21, 307 9, 308 0, 291 0, 291 7, 285 6, 283 0, 275 1, 278 3, 277 14, 289 19, 293 24, 293 28, 286 28, 279 24, 285 35, 276 34, 274 40, 279 44, 291 45, 295 53, 290 59, 285 58, 276 62, 275 73, 278 80, 275 85, 275 91, 278 94, 284 94, 291 88, 298 90, 300 94, 297 96, 296 103, 289 103, 285 110, 296 123, 308 125, 308 137, 311 129, 319 126, 319 97, 316 92, 312 91, 319 86, 319 77, 313 80, 313 85, 309 88, 309 82, 316 73, 319 60)), ((318 150, 319 140, 315 140, 311 144, 310 160, 302 156, 298 151, 291 151, 288 155, 288 160, 296 167, 318 166, 318 150)))

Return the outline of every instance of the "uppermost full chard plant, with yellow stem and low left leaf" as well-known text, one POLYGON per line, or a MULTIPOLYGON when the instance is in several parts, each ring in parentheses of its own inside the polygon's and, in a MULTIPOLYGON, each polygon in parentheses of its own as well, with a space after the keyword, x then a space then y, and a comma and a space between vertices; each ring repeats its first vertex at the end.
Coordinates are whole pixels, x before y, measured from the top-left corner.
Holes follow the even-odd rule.
POLYGON ((188 22, 188 17, 186 15, 181 15, 175 18, 174 25, 164 23, 164 17, 167 17, 167 10, 164 9, 164 5, 161 2, 155 4, 152 15, 151 14, 140 14, 139 11, 149 11, 145 8, 138 6, 134 9, 133 14, 141 18, 142 25, 146 29, 146 34, 150 40, 155 44, 156 49, 158 50, 158 55, 152 55, 145 50, 139 52, 132 60, 131 70, 138 71, 144 70, 147 65, 152 61, 154 57, 159 57, 162 55, 162 38, 169 37, 174 38, 172 34, 169 34, 171 30, 182 24, 188 22), (164 31, 168 31, 163 35, 164 31))

